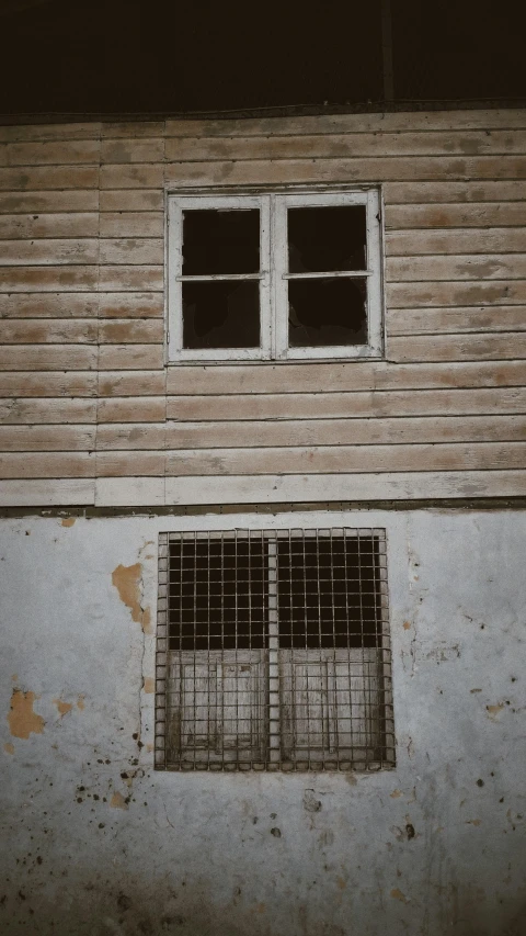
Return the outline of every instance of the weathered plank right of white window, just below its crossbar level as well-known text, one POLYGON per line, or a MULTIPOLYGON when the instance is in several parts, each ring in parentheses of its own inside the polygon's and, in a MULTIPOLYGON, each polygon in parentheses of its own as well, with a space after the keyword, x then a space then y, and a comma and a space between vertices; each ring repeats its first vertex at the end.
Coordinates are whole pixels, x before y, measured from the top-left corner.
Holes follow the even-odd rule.
POLYGON ((483 282, 436 281, 388 283, 387 306, 390 308, 424 308, 437 306, 525 305, 525 280, 483 282))

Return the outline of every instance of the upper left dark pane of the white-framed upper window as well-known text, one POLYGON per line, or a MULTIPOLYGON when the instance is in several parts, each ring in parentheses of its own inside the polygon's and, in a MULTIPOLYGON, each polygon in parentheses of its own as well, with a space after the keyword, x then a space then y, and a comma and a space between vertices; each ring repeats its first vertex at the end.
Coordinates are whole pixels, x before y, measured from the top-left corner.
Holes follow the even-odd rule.
POLYGON ((260 272, 260 212, 183 212, 183 275, 260 272))

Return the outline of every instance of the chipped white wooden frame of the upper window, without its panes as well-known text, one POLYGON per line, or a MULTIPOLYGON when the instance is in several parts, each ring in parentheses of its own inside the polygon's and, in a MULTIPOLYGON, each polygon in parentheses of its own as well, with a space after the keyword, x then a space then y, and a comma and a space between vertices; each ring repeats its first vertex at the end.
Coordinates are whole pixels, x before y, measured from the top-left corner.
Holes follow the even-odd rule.
POLYGON ((300 362, 381 358, 385 346, 381 219, 381 192, 378 187, 167 192, 167 363, 300 362), (287 281, 293 278, 322 279, 331 274, 287 272, 287 210, 334 205, 364 205, 366 208, 366 269, 342 271, 338 275, 367 280, 367 343, 291 348, 288 345, 287 281), (259 208, 260 273, 183 277, 183 211, 199 208, 259 208), (218 279, 260 281, 258 348, 183 348, 182 283, 218 279))

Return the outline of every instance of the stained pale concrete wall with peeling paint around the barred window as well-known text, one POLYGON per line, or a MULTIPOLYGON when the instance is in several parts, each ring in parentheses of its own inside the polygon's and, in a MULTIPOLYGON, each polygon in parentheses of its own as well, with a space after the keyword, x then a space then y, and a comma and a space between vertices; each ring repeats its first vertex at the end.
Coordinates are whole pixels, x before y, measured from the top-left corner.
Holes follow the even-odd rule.
POLYGON ((526 516, 331 515, 388 531, 374 775, 153 773, 157 534, 195 522, 2 521, 1 932, 524 934, 526 516))

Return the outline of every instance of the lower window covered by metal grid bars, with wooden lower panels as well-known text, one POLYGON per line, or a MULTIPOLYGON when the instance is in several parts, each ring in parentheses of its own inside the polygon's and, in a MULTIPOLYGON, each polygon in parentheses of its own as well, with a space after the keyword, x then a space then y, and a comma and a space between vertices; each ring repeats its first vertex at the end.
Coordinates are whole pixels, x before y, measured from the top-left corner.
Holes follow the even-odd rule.
POLYGON ((156 766, 395 763, 379 529, 164 533, 156 766))

